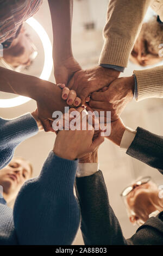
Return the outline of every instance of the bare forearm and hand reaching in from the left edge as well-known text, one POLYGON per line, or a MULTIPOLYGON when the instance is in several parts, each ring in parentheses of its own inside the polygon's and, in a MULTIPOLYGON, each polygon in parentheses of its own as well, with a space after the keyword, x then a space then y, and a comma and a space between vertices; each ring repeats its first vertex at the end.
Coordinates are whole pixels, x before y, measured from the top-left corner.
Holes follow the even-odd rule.
MULTIPOLYGON (((61 99, 61 89, 56 84, 4 68, 0 68, 0 91, 30 97, 41 102, 42 106, 46 101, 45 109, 48 105, 52 105, 52 95, 54 95, 52 113, 64 112, 64 107, 67 106, 61 99)), ((52 115, 47 118, 52 118, 52 115)))

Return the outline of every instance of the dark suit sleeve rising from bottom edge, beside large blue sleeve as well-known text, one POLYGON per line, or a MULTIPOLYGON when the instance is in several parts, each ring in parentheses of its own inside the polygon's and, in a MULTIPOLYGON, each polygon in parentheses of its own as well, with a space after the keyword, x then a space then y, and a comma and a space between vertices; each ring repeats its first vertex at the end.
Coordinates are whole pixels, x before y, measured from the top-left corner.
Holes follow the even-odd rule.
POLYGON ((85 245, 126 245, 120 224, 109 204, 101 170, 76 178, 76 193, 85 245))

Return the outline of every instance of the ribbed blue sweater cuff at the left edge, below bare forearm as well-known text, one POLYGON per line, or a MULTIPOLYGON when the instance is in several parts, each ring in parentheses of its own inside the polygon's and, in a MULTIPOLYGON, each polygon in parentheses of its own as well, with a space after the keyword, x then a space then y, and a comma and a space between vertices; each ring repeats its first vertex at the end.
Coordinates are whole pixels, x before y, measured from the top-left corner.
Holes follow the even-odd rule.
POLYGON ((12 144, 16 147, 25 139, 34 136, 38 131, 35 119, 30 113, 14 119, 3 119, 2 136, 5 141, 5 147, 12 144))

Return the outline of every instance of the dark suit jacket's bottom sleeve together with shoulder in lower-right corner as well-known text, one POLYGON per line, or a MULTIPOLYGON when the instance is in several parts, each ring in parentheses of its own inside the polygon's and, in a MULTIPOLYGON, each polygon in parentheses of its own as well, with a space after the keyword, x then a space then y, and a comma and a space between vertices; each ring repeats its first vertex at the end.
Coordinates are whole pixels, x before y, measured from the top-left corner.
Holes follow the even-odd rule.
POLYGON ((163 211, 151 217, 130 239, 124 239, 112 210, 101 170, 76 178, 85 245, 163 245, 163 211))

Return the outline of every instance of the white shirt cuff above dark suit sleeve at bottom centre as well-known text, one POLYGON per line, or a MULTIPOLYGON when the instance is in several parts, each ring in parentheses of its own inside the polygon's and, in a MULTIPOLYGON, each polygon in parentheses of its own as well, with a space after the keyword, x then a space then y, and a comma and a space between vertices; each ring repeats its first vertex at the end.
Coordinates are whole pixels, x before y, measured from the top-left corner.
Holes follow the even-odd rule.
POLYGON ((90 176, 98 172, 99 163, 79 163, 77 177, 90 176))

